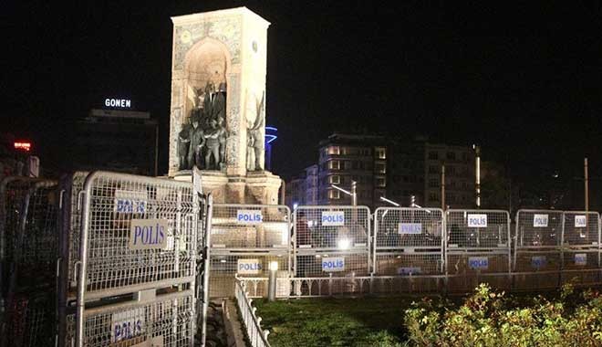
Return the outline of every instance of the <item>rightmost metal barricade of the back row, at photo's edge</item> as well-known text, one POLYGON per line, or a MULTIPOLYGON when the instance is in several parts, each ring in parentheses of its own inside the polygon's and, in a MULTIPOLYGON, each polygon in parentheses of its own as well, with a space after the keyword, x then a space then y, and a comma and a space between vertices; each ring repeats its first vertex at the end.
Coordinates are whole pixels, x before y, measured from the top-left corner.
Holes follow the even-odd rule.
POLYGON ((565 211, 562 232, 563 281, 594 283, 600 277, 600 226, 597 212, 565 211), (575 271, 574 271, 575 270, 575 271))

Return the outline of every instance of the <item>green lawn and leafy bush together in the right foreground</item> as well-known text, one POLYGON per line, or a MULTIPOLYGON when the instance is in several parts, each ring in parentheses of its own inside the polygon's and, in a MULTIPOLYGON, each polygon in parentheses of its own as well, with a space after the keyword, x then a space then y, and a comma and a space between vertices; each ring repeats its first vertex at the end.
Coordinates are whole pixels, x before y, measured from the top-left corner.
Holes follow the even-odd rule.
POLYGON ((602 346, 602 294, 505 295, 486 285, 455 300, 409 297, 254 301, 274 347, 602 346), (416 302, 418 301, 418 302, 416 302))

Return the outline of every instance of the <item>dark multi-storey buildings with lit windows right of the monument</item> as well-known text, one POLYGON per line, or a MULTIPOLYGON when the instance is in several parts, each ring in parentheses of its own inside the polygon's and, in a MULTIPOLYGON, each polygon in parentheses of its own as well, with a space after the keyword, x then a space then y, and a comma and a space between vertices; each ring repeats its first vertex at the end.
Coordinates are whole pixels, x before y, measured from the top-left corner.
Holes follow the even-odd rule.
MULTIPOLYGON (((380 196, 409 206, 471 208, 475 205, 475 153, 471 146, 431 143, 425 138, 385 138, 335 133, 319 144, 317 165, 290 182, 289 202, 297 205, 351 205, 357 183, 358 205, 387 205, 380 196), (441 166, 445 165, 445 199, 441 166), (317 174, 314 174, 317 173, 317 174), (316 184, 317 183, 317 184, 316 184), (314 200, 313 196, 317 196, 314 200)), ((287 195, 288 196, 288 195, 287 195)))

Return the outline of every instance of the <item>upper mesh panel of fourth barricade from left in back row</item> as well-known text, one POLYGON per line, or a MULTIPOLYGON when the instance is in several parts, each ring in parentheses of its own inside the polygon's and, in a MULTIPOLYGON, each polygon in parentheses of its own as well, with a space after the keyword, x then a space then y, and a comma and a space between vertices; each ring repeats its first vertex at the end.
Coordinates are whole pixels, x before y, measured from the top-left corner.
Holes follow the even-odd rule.
POLYGON ((506 211, 448 210, 448 251, 457 249, 508 249, 510 218, 506 211))

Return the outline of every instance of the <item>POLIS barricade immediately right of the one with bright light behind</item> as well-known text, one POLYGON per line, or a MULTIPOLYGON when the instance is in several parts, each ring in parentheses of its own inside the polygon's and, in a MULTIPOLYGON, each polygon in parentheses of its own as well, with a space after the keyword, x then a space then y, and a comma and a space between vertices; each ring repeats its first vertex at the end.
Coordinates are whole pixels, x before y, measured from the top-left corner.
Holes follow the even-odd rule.
MULTIPOLYGON (((445 228, 439 208, 379 207, 374 213, 373 271, 378 276, 441 275, 445 228)), ((417 279, 420 290, 440 287, 440 278, 417 279)))

